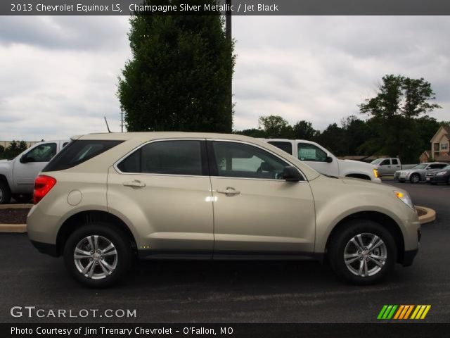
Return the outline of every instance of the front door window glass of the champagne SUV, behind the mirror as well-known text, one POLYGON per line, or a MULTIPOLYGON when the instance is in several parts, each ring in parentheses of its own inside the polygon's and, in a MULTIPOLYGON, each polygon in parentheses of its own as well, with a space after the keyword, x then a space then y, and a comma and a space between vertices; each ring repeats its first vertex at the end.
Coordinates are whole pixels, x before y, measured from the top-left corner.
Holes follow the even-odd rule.
POLYGON ((283 180, 283 169, 289 165, 269 152, 237 142, 212 142, 217 175, 224 177, 283 180))

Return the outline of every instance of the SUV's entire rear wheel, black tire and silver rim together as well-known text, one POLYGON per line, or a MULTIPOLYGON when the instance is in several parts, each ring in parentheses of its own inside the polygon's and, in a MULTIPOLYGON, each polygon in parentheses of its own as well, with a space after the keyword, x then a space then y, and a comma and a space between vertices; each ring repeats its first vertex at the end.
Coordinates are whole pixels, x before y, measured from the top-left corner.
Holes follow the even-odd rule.
POLYGON ((129 270, 133 259, 127 234, 107 223, 84 225, 64 246, 64 262, 70 273, 89 287, 107 287, 129 270))

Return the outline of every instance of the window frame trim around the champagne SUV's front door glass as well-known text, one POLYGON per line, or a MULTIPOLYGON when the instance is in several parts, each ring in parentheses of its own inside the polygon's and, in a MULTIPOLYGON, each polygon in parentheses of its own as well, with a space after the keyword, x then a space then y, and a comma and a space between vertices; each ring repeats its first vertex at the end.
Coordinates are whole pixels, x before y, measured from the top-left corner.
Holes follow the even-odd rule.
MULTIPOLYGON (((279 158, 281 161, 283 161, 285 163, 288 163, 288 165, 291 165, 294 168, 296 168, 300 172, 300 175, 302 175, 302 178, 303 178, 303 180, 300 180, 299 182, 308 182, 306 175, 304 175, 302 170, 300 168, 298 168, 297 165, 291 163, 290 161, 286 160, 285 158, 279 156, 278 154, 275 154, 273 151, 271 151, 269 149, 266 149, 263 146, 259 146, 259 144, 254 144, 254 143, 250 143, 250 142, 240 141, 240 140, 237 140, 237 139, 210 139, 210 138, 206 139, 207 150, 208 150, 208 158, 210 159, 210 174, 211 174, 211 177, 221 178, 221 179, 233 179, 233 180, 258 180, 258 181, 286 182, 285 180, 276 180, 274 178, 219 176, 219 169, 217 168, 216 156, 214 154, 214 149, 213 149, 213 146, 212 146, 212 142, 231 142, 231 143, 247 144, 248 146, 256 146, 257 148, 262 149, 263 151, 267 151, 269 154, 279 158)), ((281 150, 281 151, 283 151, 283 150, 281 150)))

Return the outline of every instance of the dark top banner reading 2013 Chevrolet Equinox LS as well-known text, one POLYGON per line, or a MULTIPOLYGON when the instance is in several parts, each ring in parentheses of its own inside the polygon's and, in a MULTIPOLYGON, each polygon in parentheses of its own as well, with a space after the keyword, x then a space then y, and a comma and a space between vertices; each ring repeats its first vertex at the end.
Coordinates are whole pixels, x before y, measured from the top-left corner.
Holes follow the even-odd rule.
MULTIPOLYGON (((158 2, 158 1, 155 1, 158 2)), ((143 0, 2 0, 0 15, 450 15, 444 0, 221 0, 174 1, 143 6, 143 0), (176 3, 176 4, 175 4, 176 3), (195 5, 193 5, 195 3, 195 5)))

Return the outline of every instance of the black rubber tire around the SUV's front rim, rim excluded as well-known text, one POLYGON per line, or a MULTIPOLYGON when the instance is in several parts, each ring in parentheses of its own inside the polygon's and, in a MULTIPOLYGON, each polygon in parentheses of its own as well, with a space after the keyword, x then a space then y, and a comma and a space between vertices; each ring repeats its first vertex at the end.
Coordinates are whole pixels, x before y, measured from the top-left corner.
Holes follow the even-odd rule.
MULTIPOLYGON (((327 256, 331 268, 333 269, 335 274, 338 275, 338 277, 340 277, 342 280, 351 282, 353 284, 366 285, 383 280, 383 278, 388 273, 390 273, 392 268, 394 268, 394 264, 397 261, 397 246, 395 244, 394 238, 392 237, 392 234, 390 234, 390 232, 387 231, 385 227, 383 227, 383 225, 380 225, 371 220, 351 220, 345 224, 345 227, 342 227, 340 230, 338 230, 338 233, 333 234, 333 237, 332 239, 330 239, 330 244, 328 246, 327 256), (375 234, 376 236, 380 237, 380 239, 385 244, 384 247, 380 246, 378 249, 380 250, 378 252, 382 252, 381 250, 383 250, 383 252, 386 253, 385 263, 376 273, 375 270, 373 270, 373 275, 356 275, 355 273, 352 273, 350 268, 347 268, 347 265, 345 263, 344 254, 346 246, 347 244, 349 246, 353 245, 349 244, 349 242, 358 234, 375 234)), ((367 266, 373 266, 374 269, 377 269, 377 265, 370 261, 370 258, 368 259, 369 261, 367 263, 367 266)), ((356 265, 357 267, 361 263, 361 261, 364 261, 364 258, 363 260, 361 260, 361 258, 356 258, 356 261, 354 261, 354 263, 352 264, 356 265)), ((368 272, 370 273, 370 269, 368 269, 368 272)))

